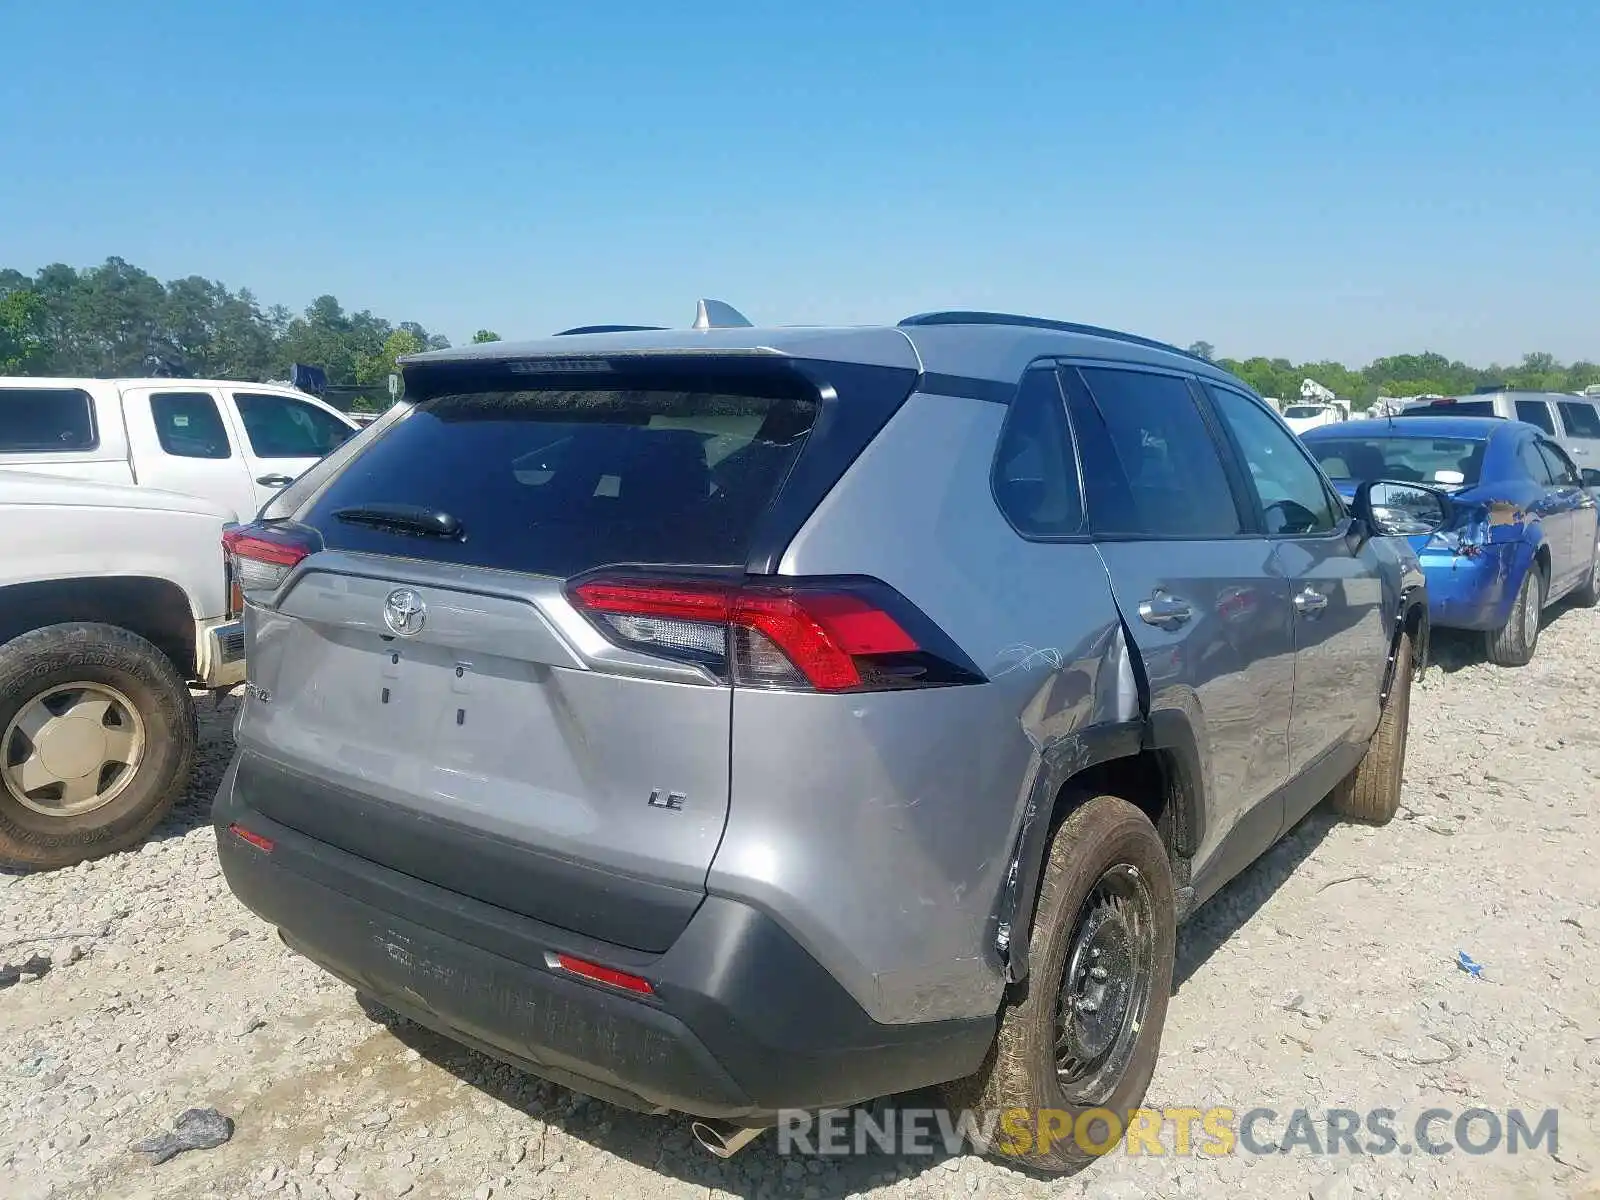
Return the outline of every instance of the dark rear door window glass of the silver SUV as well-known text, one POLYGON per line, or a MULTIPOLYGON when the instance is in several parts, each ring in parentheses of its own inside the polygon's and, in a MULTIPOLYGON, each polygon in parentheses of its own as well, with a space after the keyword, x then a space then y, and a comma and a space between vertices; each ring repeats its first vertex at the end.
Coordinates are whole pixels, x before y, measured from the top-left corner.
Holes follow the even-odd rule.
POLYGON ((1243 533, 1221 451, 1184 379, 1107 366, 1069 370, 1064 379, 1074 414, 1083 416, 1077 434, 1094 533, 1243 533))

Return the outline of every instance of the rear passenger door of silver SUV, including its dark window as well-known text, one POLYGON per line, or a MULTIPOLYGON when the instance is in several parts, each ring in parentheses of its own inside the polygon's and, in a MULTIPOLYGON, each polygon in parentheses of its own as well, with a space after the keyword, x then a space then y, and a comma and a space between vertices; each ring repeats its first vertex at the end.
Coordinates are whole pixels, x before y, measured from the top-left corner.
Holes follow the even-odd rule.
POLYGON ((1288 776, 1294 632, 1274 547, 1184 376, 1062 368, 1090 528, 1144 664, 1152 720, 1195 733, 1206 821, 1195 856, 1205 898, 1277 837, 1288 776))

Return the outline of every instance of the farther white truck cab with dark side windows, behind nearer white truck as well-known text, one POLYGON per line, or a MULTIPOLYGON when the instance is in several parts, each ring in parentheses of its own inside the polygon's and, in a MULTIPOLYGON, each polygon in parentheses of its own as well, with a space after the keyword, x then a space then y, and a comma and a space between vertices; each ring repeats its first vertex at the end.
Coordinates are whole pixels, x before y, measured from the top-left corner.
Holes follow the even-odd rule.
POLYGON ((0 378, 0 469, 202 496, 246 522, 355 430, 282 384, 0 378))

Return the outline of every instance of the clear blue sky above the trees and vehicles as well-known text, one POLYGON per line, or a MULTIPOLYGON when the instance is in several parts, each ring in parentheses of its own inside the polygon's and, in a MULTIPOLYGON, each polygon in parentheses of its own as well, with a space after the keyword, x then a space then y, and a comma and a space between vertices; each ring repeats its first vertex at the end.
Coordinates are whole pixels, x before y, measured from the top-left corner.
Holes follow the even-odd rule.
POLYGON ((1600 358, 1597 46, 1594 0, 0 0, 0 266, 458 341, 706 294, 1600 358))

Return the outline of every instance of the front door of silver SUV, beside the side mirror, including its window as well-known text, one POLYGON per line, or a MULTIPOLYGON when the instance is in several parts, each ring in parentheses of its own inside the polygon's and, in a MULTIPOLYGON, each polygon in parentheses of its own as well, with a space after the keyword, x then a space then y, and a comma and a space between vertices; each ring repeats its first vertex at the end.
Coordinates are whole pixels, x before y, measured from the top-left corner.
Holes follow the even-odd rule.
POLYGON ((1378 550, 1349 538, 1344 502, 1277 416, 1230 387, 1208 382, 1205 390, 1246 470, 1274 568, 1290 581, 1294 698, 1288 746, 1290 770, 1301 774, 1331 752, 1363 742, 1378 726, 1389 661, 1378 550))

